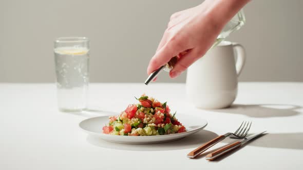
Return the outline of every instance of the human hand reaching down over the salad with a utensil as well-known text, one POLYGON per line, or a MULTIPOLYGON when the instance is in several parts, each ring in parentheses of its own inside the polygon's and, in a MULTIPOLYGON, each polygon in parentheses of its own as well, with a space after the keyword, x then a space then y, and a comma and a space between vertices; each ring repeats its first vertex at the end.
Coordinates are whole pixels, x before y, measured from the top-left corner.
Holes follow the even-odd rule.
POLYGON ((231 3, 239 4, 239 1, 206 0, 194 8, 174 13, 156 54, 149 61, 147 74, 149 75, 177 56, 177 62, 169 72, 169 76, 175 78, 202 57, 212 47, 224 25, 242 7, 238 5, 239 7, 236 8, 231 3), (225 6, 222 7, 222 3, 230 3, 228 4, 230 6, 224 4, 225 6), (232 10, 226 14, 228 7, 232 10))

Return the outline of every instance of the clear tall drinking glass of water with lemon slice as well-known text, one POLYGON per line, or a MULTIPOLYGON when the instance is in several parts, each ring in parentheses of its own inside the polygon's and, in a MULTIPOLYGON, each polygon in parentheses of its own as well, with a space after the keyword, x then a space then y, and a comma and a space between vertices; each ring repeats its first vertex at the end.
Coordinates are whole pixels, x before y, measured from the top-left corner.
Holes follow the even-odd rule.
POLYGON ((58 108, 63 112, 86 109, 89 83, 89 39, 60 37, 54 41, 58 108))

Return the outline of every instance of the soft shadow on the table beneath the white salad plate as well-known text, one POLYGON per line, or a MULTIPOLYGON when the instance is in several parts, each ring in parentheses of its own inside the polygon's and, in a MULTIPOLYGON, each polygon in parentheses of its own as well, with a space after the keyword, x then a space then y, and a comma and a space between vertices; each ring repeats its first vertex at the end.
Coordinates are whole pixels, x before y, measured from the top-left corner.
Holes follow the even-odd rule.
MULTIPOLYGON (((198 147, 201 144, 216 138, 218 135, 214 132, 201 130, 193 135, 185 137, 183 139, 167 142, 167 143, 157 143, 157 144, 120 144, 111 143, 102 140, 98 137, 89 135, 87 137, 87 142, 105 148, 112 148, 116 150, 127 150, 127 151, 171 151, 171 150, 184 150, 186 148, 198 147)), ((184 153, 185 155, 187 153, 184 153)))

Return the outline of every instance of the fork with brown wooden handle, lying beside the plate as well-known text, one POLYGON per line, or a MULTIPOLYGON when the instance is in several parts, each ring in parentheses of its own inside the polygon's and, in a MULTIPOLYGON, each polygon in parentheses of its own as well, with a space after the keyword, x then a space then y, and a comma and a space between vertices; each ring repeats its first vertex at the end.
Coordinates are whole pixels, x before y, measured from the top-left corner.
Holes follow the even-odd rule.
POLYGON ((234 133, 226 133, 224 135, 220 135, 216 137, 215 139, 204 143, 203 145, 196 148, 194 151, 187 154, 188 158, 196 158, 198 155, 206 151, 208 148, 212 147, 213 145, 219 143, 226 137, 230 136, 230 138, 236 138, 236 139, 243 139, 247 136, 250 128, 251 128, 252 122, 242 121, 239 128, 234 133), (243 124, 244 123, 244 124, 243 124))

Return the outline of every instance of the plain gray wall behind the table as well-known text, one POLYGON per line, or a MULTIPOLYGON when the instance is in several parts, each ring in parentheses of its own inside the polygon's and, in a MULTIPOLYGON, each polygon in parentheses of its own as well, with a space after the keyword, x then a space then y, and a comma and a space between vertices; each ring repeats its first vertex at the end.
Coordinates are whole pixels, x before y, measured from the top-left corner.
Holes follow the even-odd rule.
MULTIPOLYGON (((92 82, 143 82, 168 18, 201 0, 8 1, 0 5, 0 81, 53 82, 53 39, 91 40, 92 82)), ((303 1, 252 1, 228 40, 247 49, 240 81, 303 81, 303 1)), ((186 74, 171 80, 184 82, 186 74)))

